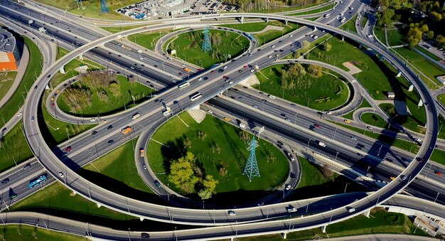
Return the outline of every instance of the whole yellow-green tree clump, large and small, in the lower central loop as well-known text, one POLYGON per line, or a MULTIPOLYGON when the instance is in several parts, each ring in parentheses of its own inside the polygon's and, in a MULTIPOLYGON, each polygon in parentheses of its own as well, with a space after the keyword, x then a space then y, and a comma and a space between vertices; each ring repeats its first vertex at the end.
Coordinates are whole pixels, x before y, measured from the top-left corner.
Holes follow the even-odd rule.
POLYGON ((212 197, 218 184, 213 176, 203 176, 203 171, 196 164, 196 158, 190 151, 187 152, 186 156, 171 161, 168 181, 186 193, 196 191, 203 200, 212 197))

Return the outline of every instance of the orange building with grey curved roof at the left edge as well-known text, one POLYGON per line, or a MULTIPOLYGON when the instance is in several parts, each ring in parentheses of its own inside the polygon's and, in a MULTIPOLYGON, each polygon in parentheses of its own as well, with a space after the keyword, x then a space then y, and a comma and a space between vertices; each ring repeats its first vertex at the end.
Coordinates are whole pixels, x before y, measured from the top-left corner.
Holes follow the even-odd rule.
POLYGON ((0 28, 0 71, 17 70, 20 60, 16 38, 4 28, 0 28))

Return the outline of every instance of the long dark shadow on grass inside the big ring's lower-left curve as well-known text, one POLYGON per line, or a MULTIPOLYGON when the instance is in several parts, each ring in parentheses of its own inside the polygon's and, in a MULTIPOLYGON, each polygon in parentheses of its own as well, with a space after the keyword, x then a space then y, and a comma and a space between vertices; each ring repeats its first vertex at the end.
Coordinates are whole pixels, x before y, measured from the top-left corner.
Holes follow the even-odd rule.
POLYGON ((146 193, 144 191, 137 190, 135 188, 127 186, 127 184, 117 181, 116 179, 110 178, 103 175, 102 173, 97 173, 95 171, 89 171, 84 168, 79 168, 76 173, 86 178, 88 181, 95 183, 96 185, 107 189, 113 193, 118 193, 119 195, 126 196, 128 198, 133 198, 136 200, 141 200, 144 202, 155 203, 159 205, 166 205, 167 203, 159 196, 153 193, 146 193))

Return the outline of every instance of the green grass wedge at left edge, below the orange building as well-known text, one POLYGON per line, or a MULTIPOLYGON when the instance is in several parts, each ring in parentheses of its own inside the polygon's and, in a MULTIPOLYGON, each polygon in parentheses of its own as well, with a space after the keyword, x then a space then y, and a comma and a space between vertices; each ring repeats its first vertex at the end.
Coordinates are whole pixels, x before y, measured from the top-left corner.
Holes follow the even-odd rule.
POLYGON ((22 121, 18 122, 2 139, 3 144, 0 147, 0 156, 2 156, 0 159, 0 171, 4 171, 14 166, 15 163, 19 164, 21 161, 33 156, 21 130, 22 124, 22 121))

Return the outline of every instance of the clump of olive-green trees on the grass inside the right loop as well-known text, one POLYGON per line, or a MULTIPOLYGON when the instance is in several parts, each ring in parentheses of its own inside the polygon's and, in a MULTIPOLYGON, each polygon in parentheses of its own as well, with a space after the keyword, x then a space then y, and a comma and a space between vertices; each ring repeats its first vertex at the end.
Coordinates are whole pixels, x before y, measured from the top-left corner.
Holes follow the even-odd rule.
POLYGON ((281 70, 282 90, 304 89, 310 87, 313 82, 306 80, 306 73, 309 73, 312 77, 321 77, 321 67, 318 65, 308 65, 307 68, 304 68, 304 66, 299 63, 286 65, 281 70))

